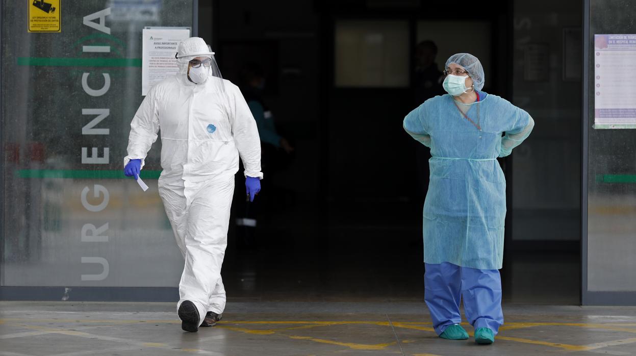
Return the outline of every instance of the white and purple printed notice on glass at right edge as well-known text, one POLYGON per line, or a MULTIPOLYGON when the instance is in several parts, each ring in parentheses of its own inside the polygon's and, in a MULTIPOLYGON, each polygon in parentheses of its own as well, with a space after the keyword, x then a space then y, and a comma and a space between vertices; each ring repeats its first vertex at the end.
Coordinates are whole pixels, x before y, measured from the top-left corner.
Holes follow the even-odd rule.
POLYGON ((636 34, 594 35, 594 128, 636 128, 636 34))

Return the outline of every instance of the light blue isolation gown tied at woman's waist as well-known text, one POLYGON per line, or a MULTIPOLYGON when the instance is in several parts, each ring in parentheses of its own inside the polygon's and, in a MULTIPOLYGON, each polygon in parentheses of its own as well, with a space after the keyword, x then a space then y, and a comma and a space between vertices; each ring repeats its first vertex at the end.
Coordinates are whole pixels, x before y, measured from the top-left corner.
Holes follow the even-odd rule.
POLYGON ((497 157, 508 156, 521 144, 534 121, 508 100, 479 95, 480 100, 469 106, 448 94, 437 96, 404 118, 404 130, 431 148, 424 203, 425 263, 480 270, 502 267, 506 179, 497 157), (459 107, 468 110, 462 114, 459 107))

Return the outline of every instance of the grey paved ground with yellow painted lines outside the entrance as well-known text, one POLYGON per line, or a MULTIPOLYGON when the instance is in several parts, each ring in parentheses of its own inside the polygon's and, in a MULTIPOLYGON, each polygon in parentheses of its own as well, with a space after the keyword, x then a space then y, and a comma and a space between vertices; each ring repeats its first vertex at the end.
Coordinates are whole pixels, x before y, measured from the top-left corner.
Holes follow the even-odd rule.
POLYGON ((175 309, 0 302, 0 355, 636 354, 634 307, 504 305, 490 346, 438 338, 424 303, 228 303, 216 327, 197 333, 181 331, 175 309))

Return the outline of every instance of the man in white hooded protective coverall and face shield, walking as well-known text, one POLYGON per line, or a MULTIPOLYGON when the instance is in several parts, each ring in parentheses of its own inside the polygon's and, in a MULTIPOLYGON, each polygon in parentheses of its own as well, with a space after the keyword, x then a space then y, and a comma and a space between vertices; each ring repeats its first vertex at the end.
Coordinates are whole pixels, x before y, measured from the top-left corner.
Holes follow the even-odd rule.
POLYGON ((222 79, 202 38, 177 47, 179 72, 149 91, 130 123, 124 171, 139 177, 161 129, 159 195, 185 266, 177 310, 181 328, 212 326, 225 308, 221 264, 227 245, 239 156, 253 200, 260 190, 261 144, 256 121, 237 86, 222 79))

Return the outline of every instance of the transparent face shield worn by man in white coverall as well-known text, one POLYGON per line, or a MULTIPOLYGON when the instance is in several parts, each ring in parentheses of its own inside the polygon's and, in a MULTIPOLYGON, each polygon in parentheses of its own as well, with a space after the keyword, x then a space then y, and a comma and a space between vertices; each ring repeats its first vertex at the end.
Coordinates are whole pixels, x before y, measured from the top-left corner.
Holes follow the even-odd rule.
MULTIPOLYGON (((208 46, 209 48, 209 46, 208 46)), ((214 54, 208 49, 208 53, 193 53, 191 55, 180 56, 176 53, 179 73, 185 74, 195 85, 213 86, 217 92, 225 93, 223 76, 216 63, 214 54)))

